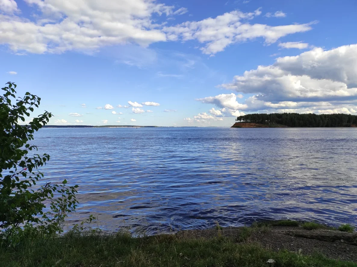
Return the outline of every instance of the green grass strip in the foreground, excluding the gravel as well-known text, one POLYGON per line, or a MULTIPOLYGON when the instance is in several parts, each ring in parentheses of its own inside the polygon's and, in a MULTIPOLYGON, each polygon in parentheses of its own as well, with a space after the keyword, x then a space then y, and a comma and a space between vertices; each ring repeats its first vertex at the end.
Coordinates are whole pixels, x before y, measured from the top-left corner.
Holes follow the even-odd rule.
MULTIPOLYGON (((246 227, 247 229, 250 227, 246 227)), ((251 230, 246 230, 249 233, 251 230)), ((15 248, 1 247, 1 266, 273 266, 356 267, 352 262, 321 255, 266 250, 258 245, 235 243, 226 238, 189 238, 157 235, 133 238, 128 233, 112 235, 67 234, 61 238, 32 237, 15 248)))

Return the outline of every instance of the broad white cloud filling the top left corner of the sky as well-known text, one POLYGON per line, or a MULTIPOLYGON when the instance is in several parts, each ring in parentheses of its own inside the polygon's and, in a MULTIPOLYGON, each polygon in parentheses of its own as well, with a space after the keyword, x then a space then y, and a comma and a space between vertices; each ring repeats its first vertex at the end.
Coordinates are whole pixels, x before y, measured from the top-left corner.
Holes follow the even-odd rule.
MULTIPOLYGON (((31 53, 95 51, 102 46, 126 42, 147 46, 166 41, 166 34, 158 29, 160 25, 155 24, 152 16, 174 13, 173 6, 154 0, 106 1, 105 5, 89 0, 26 2, 40 14, 38 11, 29 14, 27 17, 32 17, 32 21, 25 17, 1 16, 0 40, 14 51, 31 53)), ((15 1, 1 0, 1 9, 14 11, 15 8, 15 1)))

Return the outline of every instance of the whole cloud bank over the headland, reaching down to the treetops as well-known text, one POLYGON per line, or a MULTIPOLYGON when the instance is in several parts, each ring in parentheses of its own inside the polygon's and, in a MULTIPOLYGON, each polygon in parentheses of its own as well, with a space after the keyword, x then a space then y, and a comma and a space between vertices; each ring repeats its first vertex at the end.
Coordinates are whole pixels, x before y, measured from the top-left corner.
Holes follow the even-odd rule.
MULTIPOLYGON (((326 51, 313 48, 298 56, 280 57, 272 65, 245 71, 221 86, 254 94, 239 108, 244 111, 348 113, 357 102, 357 45, 326 51)), ((202 102, 214 103, 217 97, 202 102)))

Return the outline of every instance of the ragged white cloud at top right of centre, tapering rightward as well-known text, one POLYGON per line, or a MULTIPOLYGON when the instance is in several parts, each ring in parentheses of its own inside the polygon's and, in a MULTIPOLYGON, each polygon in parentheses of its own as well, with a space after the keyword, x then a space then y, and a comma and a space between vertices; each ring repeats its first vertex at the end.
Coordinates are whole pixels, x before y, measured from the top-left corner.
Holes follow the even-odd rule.
MULTIPOLYGON (((265 43, 270 44, 286 35, 312 29, 311 23, 269 26, 242 22, 242 20, 250 20, 260 14, 260 9, 249 13, 235 10, 215 18, 201 21, 186 21, 175 26, 164 27, 163 31, 167 33, 169 40, 197 40, 205 44, 205 47, 200 48, 203 53, 214 55, 217 52, 223 51, 225 47, 232 43, 245 42, 262 37, 265 43)), ((283 13, 276 12, 275 14, 281 17, 283 13)))

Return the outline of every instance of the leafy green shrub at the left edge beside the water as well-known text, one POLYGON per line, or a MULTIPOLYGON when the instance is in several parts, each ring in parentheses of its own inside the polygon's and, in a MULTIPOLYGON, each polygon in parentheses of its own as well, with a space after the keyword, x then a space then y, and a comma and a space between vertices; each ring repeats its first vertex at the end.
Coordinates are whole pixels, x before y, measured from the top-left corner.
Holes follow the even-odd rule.
POLYGON ((58 185, 36 185, 44 176, 38 168, 50 156, 30 156, 29 152, 37 151, 37 147, 27 142, 34 139, 34 132, 46 125, 52 114, 45 111, 27 125, 20 125, 34 107, 39 107, 41 99, 29 92, 16 99, 15 88, 16 84, 8 82, 0 95, 0 242, 11 245, 26 233, 61 232, 61 222, 78 203, 78 186, 66 186, 66 179, 58 185))

